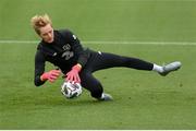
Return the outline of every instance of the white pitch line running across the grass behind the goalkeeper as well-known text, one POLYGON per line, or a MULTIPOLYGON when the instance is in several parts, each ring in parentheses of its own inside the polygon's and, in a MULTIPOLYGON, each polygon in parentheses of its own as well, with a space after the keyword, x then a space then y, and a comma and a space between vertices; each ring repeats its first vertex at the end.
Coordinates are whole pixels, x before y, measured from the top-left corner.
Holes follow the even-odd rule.
MULTIPOLYGON (((0 40, 0 44, 38 44, 38 40, 0 40)), ((179 45, 196 46, 196 41, 121 41, 121 40, 86 40, 82 44, 100 44, 100 45, 179 45)))

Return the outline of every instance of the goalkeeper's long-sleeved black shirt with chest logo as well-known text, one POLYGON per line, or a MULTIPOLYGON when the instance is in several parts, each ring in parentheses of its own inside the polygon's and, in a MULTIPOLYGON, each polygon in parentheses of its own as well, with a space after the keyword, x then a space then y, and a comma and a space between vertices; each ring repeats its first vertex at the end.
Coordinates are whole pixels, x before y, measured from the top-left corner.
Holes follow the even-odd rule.
POLYGON ((47 44, 41 40, 37 46, 35 55, 35 79, 36 86, 42 85, 45 81, 40 75, 45 72, 45 63, 49 61, 66 73, 76 63, 84 67, 90 56, 89 49, 84 49, 78 38, 69 29, 54 31, 54 40, 47 44))

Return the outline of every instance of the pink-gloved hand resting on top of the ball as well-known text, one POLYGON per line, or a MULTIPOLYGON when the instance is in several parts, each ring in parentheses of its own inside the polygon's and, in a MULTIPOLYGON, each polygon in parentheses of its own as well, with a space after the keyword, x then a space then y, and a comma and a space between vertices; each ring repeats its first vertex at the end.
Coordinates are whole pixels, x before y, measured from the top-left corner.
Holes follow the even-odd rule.
POLYGON ((66 73, 66 82, 81 83, 81 78, 78 72, 81 71, 81 64, 76 64, 72 68, 70 72, 66 73))

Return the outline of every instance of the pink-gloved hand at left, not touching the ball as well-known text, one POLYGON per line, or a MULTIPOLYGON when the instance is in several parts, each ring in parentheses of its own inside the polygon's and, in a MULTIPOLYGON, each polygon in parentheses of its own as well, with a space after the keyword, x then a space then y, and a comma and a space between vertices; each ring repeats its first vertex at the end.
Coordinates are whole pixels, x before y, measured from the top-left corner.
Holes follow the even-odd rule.
POLYGON ((45 72, 40 76, 40 79, 41 79, 41 81, 47 81, 48 80, 49 82, 52 83, 52 82, 54 82, 59 78, 60 73, 61 73, 60 70, 51 70, 49 72, 45 72))

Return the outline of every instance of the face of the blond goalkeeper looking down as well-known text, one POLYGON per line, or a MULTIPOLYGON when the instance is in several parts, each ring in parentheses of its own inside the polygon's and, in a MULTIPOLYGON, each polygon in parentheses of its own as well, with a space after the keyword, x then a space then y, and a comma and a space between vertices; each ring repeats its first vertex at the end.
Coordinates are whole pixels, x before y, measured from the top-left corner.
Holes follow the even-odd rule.
POLYGON ((39 36, 44 41, 51 44, 53 41, 53 28, 50 24, 47 24, 45 27, 39 28, 39 36))

